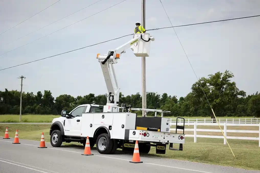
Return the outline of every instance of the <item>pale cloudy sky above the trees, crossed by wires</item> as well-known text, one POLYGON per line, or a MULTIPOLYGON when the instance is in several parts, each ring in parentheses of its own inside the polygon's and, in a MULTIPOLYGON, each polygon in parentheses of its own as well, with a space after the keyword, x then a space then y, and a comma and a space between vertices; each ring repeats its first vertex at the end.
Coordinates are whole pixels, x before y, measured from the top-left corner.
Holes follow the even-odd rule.
MULTIPOLYGON (((0 33, 56 1, 0 1, 0 33)), ((141 22, 141 0, 126 0, 107 10, 104 9, 122 0, 97 1, 99 0, 61 0, 1 34, 0 54, 5 54, 0 56, 0 69, 132 34, 135 22, 141 22), (16 40, 92 3, 95 4, 16 40), (102 12, 97 13, 99 11, 102 12), (82 21, 77 22, 79 20, 82 21), (75 22, 77 23, 73 24, 75 22), (66 27, 70 24, 73 25, 66 27), (62 29, 63 27, 66 28, 62 29), (54 31, 57 32, 50 34, 54 31), (34 41, 47 34, 49 35, 34 41), (11 41, 13 42, 7 44, 11 41), (30 43, 31 41, 34 42, 30 43), (22 46, 24 44, 27 45, 22 46), (20 48, 15 49, 17 47, 20 48)), ((260 15, 258 0, 161 2, 173 25, 260 15)), ((146 1, 145 29, 168 26, 171 24, 160 0, 146 1)), ((175 30, 198 78, 229 70, 235 75, 232 81, 248 95, 256 93, 260 88, 259 28, 260 17, 254 17, 176 27, 175 30)), ((155 38, 151 42, 150 56, 146 57, 147 92, 157 92, 160 95, 167 93, 176 95, 177 98, 186 96, 197 79, 173 29, 147 32, 155 38)), ((61 94, 74 97, 89 93, 105 94, 107 88, 96 54, 106 54, 109 49, 115 49, 131 38, 132 36, 128 36, 2 70, 0 91, 5 88, 20 90, 21 79, 18 77, 23 75, 26 77, 23 80, 24 92, 36 94, 37 91, 50 90, 54 98, 61 94)), ((127 49, 114 68, 120 91, 125 96, 142 93, 141 57, 136 57, 131 49, 127 49)))

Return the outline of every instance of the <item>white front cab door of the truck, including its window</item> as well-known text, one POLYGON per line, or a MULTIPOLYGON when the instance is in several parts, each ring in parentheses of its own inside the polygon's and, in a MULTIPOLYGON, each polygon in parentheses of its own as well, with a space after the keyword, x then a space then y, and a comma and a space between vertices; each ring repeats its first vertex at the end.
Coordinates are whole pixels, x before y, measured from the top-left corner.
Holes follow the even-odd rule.
POLYGON ((87 106, 77 107, 71 112, 71 118, 65 120, 64 135, 80 136, 82 113, 86 112, 87 106))

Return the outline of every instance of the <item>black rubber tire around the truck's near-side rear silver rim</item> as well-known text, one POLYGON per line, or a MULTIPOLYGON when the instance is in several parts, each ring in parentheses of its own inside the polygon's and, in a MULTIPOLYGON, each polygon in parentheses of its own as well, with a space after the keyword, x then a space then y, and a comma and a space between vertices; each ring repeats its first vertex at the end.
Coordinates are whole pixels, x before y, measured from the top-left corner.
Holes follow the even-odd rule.
MULTIPOLYGON (((101 141, 100 141, 101 142, 101 141)), ((101 144, 101 146, 103 146, 101 144)), ((110 139, 110 137, 108 136, 108 134, 106 133, 102 133, 100 134, 98 137, 97 137, 97 140, 96 140, 96 148, 97 148, 97 151, 100 153, 100 154, 109 154, 112 150, 112 147, 113 147, 113 139, 110 139), (106 140, 106 147, 104 149, 102 148, 99 148, 99 141, 100 140, 103 140, 105 138, 106 140)))

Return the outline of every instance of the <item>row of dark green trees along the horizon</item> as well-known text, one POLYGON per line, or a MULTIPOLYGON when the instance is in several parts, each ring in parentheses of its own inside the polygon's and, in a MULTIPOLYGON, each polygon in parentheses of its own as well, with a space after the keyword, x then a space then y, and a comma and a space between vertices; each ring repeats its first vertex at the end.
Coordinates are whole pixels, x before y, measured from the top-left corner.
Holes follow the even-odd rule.
MULTIPOLYGON (((217 72, 208 77, 200 78, 191 86, 191 92, 177 99, 176 95, 162 95, 147 92, 147 108, 171 111, 167 116, 211 116, 214 110, 216 116, 255 116, 260 117, 260 94, 258 92, 246 95, 239 90, 230 71, 217 72), (202 89, 203 88, 203 89, 202 89), (204 94, 205 93, 205 94, 204 94), (206 97, 205 97, 206 95, 206 97), (209 104, 210 103, 210 104, 209 104)), ((20 91, 5 89, 0 91, 0 114, 20 113, 20 91)), ((67 112, 81 104, 106 105, 107 94, 73 97, 63 94, 56 99, 49 90, 37 94, 22 93, 22 114, 60 114, 62 109, 67 112)), ((139 93, 124 96, 120 93, 121 103, 142 107, 142 96, 139 93)))

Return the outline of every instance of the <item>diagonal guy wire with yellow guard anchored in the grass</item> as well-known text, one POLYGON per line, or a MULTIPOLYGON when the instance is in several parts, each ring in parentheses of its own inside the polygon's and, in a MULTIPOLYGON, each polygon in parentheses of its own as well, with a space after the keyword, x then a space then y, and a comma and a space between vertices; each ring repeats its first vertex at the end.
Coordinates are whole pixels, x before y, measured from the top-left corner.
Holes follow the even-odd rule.
MULTIPOLYGON (((161 0, 160 0, 160 2, 161 2, 161 0)), ((162 4, 162 2, 161 2, 161 4, 162 4)), ((168 16, 168 14, 167 14, 167 12, 166 12, 166 10, 165 10, 163 4, 162 4, 162 7, 163 7, 163 9, 164 9, 164 11, 165 11, 165 13, 166 13, 166 15, 167 15, 167 17, 168 17, 168 19, 169 19, 171 25, 172 25, 172 22, 171 22, 171 20, 170 20, 170 18, 169 18, 169 16, 168 16)), ((194 74, 195 74, 195 76, 196 76, 196 78, 197 78, 197 80, 198 80, 198 82, 199 82, 199 85, 200 85, 200 87, 201 87, 201 89, 202 89, 202 91, 203 91, 203 93, 204 93, 204 95, 205 95, 205 97, 206 97, 206 99, 207 99, 207 102, 209 103, 209 106, 210 106, 210 108, 211 108, 211 110, 212 110, 212 113, 213 113, 213 115, 215 116, 215 119, 217 120, 217 117, 216 117, 216 115, 215 115, 215 113, 214 113, 214 111, 213 111, 213 109, 212 109, 212 107, 211 107, 211 104, 210 104, 210 102, 209 102, 209 100, 208 100, 208 98, 207 98, 207 96, 206 96, 206 94, 205 94, 205 92, 204 92, 203 87, 201 86, 201 83, 200 83, 200 81, 199 81, 199 79, 198 79, 198 77, 197 77, 197 75, 196 75, 196 73, 195 73, 195 71, 194 71, 194 69, 193 69, 193 67, 192 67, 192 65, 191 65, 191 62, 190 62, 190 60, 189 60, 189 58, 188 58, 188 56, 187 56, 187 53, 185 52, 185 50, 184 50, 184 48, 183 48, 183 45, 181 44, 181 41, 180 41, 180 39, 179 39, 179 37, 178 37, 178 35, 177 35, 177 32, 175 31, 173 25, 172 25, 172 29, 174 30, 174 32, 175 32, 175 34, 176 34, 176 36, 177 36, 177 38, 178 38, 178 40, 179 40, 179 42, 180 42, 180 45, 181 45, 181 47, 182 47, 182 49, 183 49, 183 51, 184 51, 184 53, 185 53, 185 55, 186 55, 186 58, 188 59, 188 61, 189 61, 189 63, 190 63, 190 66, 191 66, 191 68, 192 68, 192 70, 193 70, 193 72, 194 72, 194 74)), ((220 130, 221 130, 221 132, 222 132, 222 134, 223 134, 223 136, 224 136, 226 142, 228 143, 228 140, 226 139, 226 136, 224 135, 224 133, 223 133, 223 131, 222 131, 220 125, 219 125, 218 120, 217 120, 217 123, 218 123, 218 126, 219 126, 219 128, 220 128, 220 130)), ((234 155, 234 153, 233 153, 233 151, 232 151, 232 149, 231 149, 229 143, 228 143, 228 146, 229 146, 229 148, 230 148, 230 150, 231 150, 231 153, 232 153, 233 156, 235 157, 235 155, 234 155)))

